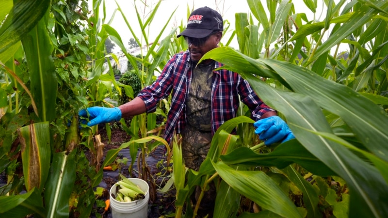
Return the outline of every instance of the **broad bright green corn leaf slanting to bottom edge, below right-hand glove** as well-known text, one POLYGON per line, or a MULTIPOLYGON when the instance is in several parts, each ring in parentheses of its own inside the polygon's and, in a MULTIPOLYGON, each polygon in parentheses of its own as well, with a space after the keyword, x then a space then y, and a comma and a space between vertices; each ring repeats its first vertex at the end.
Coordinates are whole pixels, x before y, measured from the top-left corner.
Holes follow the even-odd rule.
POLYGON ((223 162, 213 163, 213 166, 230 187, 256 202, 263 209, 283 217, 302 217, 288 196, 264 172, 236 171, 223 162))

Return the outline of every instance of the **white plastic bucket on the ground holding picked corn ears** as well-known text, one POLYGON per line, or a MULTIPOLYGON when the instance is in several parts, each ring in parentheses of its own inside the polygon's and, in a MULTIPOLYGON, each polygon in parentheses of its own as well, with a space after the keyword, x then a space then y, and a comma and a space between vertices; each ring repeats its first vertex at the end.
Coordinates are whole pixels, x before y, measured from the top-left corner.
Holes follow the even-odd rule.
POLYGON ((138 178, 129 178, 134 184, 138 185, 145 193, 144 199, 136 200, 133 202, 119 202, 112 194, 116 196, 117 183, 111 187, 110 204, 113 218, 146 218, 148 211, 148 199, 149 199, 149 187, 146 181, 138 178))

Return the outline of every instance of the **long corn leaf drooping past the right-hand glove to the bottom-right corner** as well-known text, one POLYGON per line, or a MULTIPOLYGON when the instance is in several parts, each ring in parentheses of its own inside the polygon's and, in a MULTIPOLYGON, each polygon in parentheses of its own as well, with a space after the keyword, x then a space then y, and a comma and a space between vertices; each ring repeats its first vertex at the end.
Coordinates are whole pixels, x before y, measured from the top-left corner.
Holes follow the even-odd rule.
MULTIPOLYGON (((254 88, 255 90, 260 87, 253 80, 248 80, 256 87, 254 88)), ((263 101, 271 102, 270 105, 273 107, 272 103, 274 103, 276 105, 274 108, 281 111, 288 118, 287 121, 294 135, 306 149, 347 182, 352 190, 351 214, 362 214, 362 216, 373 214, 374 217, 384 217, 387 214, 386 207, 378 199, 386 196, 388 187, 379 172, 345 147, 338 146, 337 143, 330 140, 307 134, 306 131, 292 128, 294 123, 295 125, 309 128, 312 131, 331 132, 331 128, 325 122, 323 114, 319 115, 317 113, 319 107, 314 106, 311 98, 303 97, 303 95, 293 96, 293 93, 275 91, 275 89, 270 88, 268 85, 266 86, 267 89, 262 86, 259 88, 261 90, 260 97, 262 97, 263 101), (272 95, 266 92, 268 89, 273 90, 276 94, 272 95), (276 100, 271 101, 267 97, 276 100), (371 188, 371 183, 378 190, 371 188), (376 192, 379 193, 377 196, 375 195, 376 192)), ((349 216, 351 217, 352 215, 349 216)))

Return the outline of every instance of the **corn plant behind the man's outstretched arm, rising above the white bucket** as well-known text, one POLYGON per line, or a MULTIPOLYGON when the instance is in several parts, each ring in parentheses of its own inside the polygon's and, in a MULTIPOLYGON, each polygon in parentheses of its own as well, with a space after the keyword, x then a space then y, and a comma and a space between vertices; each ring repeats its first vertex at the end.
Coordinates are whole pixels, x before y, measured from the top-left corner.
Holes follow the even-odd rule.
MULTIPOLYGON (((170 39, 173 37, 175 33, 175 29, 171 30, 170 33, 167 35, 167 37, 162 39, 162 41, 160 41, 160 39, 162 37, 162 33, 165 31, 167 24, 174 13, 172 13, 172 15, 166 20, 166 24, 162 27, 162 29, 160 30, 160 34, 155 38, 154 42, 150 42, 148 38, 149 33, 147 31, 149 31, 149 25, 154 19, 156 13, 158 12, 158 8, 161 2, 162 1, 158 1, 155 5, 150 5, 150 6, 146 4, 142 4, 145 7, 143 11, 148 11, 148 10, 150 11, 150 14, 148 16, 142 17, 142 14, 138 8, 139 5, 137 5, 136 2, 134 1, 133 5, 136 11, 136 15, 138 17, 138 20, 137 20, 138 25, 142 30, 140 35, 137 35, 132 30, 133 23, 129 23, 125 15, 125 11, 123 11, 120 5, 117 4, 116 2, 117 10, 123 16, 129 31, 131 32, 133 38, 136 40, 137 44, 141 48, 141 53, 138 57, 133 56, 127 52, 127 49, 124 46, 117 32, 113 31, 112 29, 107 29, 109 30, 107 31, 109 36, 121 48, 122 52, 124 52, 125 56, 128 58, 129 63, 133 66, 135 71, 134 73, 138 76, 138 78, 140 78, 142 88, 144 88, 147 85, 150 85, 153 82, 155 78, 154 73, 158 71, 160 72, 164 64, 169 59, 169 57, 171 57, 171 54, 168 51, 170 49, 170 43, 171 43, 170 39), (141 63, 140 69, 138 67, 137 62, 141 63)), ((133 99, 133 96, 131 96, 130 99, 133 99)), ((158 109, 157 113, 165 115, 162 109, 158 109)), ((151 143, 148 145, 146 143, 138 144, 138 143, 132 143, 132 142, 139 141, 140 139, 146 139, 147 137, 153 136, 154 134, 153 130, 156 129, 157 113, 141 114, 133 117, 131 120, 130 127, 127 127, 124 120, 121 121, 121 124, 124 126, 124 129, 129 135, 131 135, 131 140, 133 140, 129 142, 131 144, 131 147, 129 149, 130 155, 131 155, 131 164, 129 167, 129 171, 132 170, 132 165, 136 160, 138 148, 140 148, 141 153, 138 159, 139 178, 142 178, 144 180, 148 180, 148 178, 151 176, 149 174, 148 167, 146 166, 146 155, 149 154, 150 151, 153 151, 156 148, 156 146, 159 146, 160 142, 159 140, 157 140, 155 143, 151 143)), ((156 130, 156 131, 160 132, 160 130, 156 130)), ((162 138, 160 138, 160 140, 162 140, 162 138)), ((151 196, 151 199, 152 199, 152 196, 151 196)))

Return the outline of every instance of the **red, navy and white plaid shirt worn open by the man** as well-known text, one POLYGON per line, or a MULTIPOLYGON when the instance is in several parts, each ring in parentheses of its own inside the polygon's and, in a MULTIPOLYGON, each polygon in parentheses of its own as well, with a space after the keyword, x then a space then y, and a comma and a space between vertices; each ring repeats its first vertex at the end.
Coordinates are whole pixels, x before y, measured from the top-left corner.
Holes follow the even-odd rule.
MULTIPOLYGON (((221 67, 220 62, 215 68, 221 67)), ((214 68, 214 69, 215 69, 214 68)), ((154 112, 157 103, 172 92, 171 108, 167 114, 164 139, 170 143, 174 131, 180 133, 185 126, 185 100, 189 94, 192 68, 188 50, 174 55, 164 66, 161 75, 150 86, 139 94, 146 104, 146 112, 154 112)), ((211 87, 211 132, 214 134, 218 127, 226 121, 236 117, 241 101, 251 110, 252 119, 259 120, 268 111, 275 111, 264 104, 249 83, 239 74, 230 70, 214 70, 211 87)))

